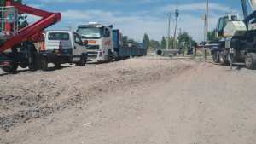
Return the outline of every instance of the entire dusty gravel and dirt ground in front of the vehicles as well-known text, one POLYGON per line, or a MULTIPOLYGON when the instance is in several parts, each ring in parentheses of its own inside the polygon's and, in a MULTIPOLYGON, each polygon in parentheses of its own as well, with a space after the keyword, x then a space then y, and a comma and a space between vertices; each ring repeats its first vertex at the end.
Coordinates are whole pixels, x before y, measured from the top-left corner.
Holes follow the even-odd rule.
POLYGON ((3 75, 0 143, 254 144, 255 88, 255 71, 153 58, 3 75))

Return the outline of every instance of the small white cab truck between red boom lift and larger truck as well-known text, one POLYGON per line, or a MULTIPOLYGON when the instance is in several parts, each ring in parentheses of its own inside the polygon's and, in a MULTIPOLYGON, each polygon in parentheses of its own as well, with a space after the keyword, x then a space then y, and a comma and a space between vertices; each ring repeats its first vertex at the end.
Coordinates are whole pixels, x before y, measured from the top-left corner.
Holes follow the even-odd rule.
POLYGON ((87 48, 79 33, 47 31, 44 39, 44 48, 39 53, 43 70, 48 69, 49 63, 54 63, 56 68, 65 63, 85 66, 88 57, 87 48))

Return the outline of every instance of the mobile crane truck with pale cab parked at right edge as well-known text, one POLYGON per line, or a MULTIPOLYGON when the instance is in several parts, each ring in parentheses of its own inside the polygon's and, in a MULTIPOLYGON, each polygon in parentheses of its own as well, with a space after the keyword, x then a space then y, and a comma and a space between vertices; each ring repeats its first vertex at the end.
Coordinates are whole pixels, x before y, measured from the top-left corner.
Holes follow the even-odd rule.
POLYGON ((216 28, 217 40, 211 42, 212 58, 221 65, 232 66, 245 62, 248 69, 256 68, 256 0, 241 0, 244 20, 236 14, 219 18, 216 28), (247 5, 253 9, 248 14, 247 5))

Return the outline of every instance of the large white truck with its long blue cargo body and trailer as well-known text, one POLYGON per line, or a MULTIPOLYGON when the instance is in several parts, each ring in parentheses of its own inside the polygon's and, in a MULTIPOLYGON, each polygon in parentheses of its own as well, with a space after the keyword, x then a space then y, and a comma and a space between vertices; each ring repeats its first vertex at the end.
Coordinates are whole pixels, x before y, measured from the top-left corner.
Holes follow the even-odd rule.
POLYGON ((88 43, 90 61, 121 60, 130 56, 147 55, 143 43, 129 42, 128 37, 113 26, 103 26, 96 22, 78 26, 79 34, 84 43, 88 43))

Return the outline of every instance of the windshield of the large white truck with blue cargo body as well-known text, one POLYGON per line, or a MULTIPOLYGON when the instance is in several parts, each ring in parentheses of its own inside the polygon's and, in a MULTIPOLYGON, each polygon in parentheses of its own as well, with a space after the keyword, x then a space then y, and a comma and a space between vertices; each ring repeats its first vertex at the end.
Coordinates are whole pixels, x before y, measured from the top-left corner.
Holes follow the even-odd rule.
POLYGON ((102 28, 99 27, 80 27, 78 32, 83 38, 100 38, 102 37, 102 28))

